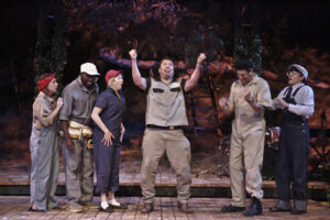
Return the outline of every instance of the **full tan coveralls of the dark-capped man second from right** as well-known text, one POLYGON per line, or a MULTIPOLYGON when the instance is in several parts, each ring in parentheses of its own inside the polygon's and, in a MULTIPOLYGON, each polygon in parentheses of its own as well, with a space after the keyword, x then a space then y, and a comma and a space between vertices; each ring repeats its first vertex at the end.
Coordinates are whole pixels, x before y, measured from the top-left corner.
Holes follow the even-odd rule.
POLYGON ((230 182, 232 206, 245 207, 245 189, 257 199, 263 198, 261 169, 264 155, 265 120, 257 114, 244 99, 244 90, 251 92, 256 103, 272 106, 268 84, 255 76, 243 86, 233 82, 228 106, 233 107, 235 118, 232 122, 230 142, 230 182), (245 176, 243 173, 245 169, 245 176))

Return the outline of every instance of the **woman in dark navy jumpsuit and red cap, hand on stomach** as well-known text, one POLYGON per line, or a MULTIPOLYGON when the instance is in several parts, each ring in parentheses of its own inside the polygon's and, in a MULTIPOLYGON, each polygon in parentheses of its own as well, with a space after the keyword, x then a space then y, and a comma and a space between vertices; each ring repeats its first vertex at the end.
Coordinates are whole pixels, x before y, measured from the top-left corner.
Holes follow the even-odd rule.
POLYGON ((127 208, 114 199, 114 191, 119 189, 119 156, 124 133, 122 117, 125 100, 121 92, 123 84, 121 72, 109 70, 106 82, 107 89, 98 96, 91 119, 96 123, 92 133, 97 170, 96 191, 101 195, 100 210, 111 212, 114 208, 127 208))

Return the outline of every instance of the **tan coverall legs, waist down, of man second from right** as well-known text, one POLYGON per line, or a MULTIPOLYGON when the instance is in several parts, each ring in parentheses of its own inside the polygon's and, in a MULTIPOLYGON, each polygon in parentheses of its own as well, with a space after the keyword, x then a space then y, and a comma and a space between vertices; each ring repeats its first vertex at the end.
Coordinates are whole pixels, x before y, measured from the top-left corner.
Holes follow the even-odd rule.
POLYGON ((264 140, 263 130, 248 134, 232 132, 229 165, 233 206, 245 207, 245 189, 252 197, 263 198, 261 169, 264 140))

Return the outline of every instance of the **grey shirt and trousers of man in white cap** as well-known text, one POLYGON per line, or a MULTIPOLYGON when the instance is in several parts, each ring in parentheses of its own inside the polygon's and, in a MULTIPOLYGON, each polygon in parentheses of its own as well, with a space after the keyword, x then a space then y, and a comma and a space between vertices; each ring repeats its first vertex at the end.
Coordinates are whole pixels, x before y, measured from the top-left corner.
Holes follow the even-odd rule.
MULTIPOLYGON (((87 89, 80 76, 67 85, 63 90, 64 105, 59 112, 59 120, 73 120, 90 127, 91 111, 97 99, 98 87, 95 84, 87 89)), ((68 151, 63 140, 63 155, 65 161, 66 193, 69 205, 78 201, 90 201, 94 191, 94 156, 92 150, 87 147, 87 139, 73 139, 75 150, 68 151)))

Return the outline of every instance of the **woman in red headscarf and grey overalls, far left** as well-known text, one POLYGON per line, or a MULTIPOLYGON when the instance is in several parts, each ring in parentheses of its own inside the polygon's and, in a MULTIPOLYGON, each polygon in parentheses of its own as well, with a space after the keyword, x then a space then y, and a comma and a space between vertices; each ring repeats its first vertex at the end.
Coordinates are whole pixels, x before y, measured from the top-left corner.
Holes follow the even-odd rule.
POLYGON ((55 74, 43 74, 38 80, 38 95, 33 102, 33 123, 30 138, 31 151, 31 205, 30 211, 43 212, 58 208, 55 190, 58 177, 58 147, 56 139, 62 98, 57 101, 55 74))

